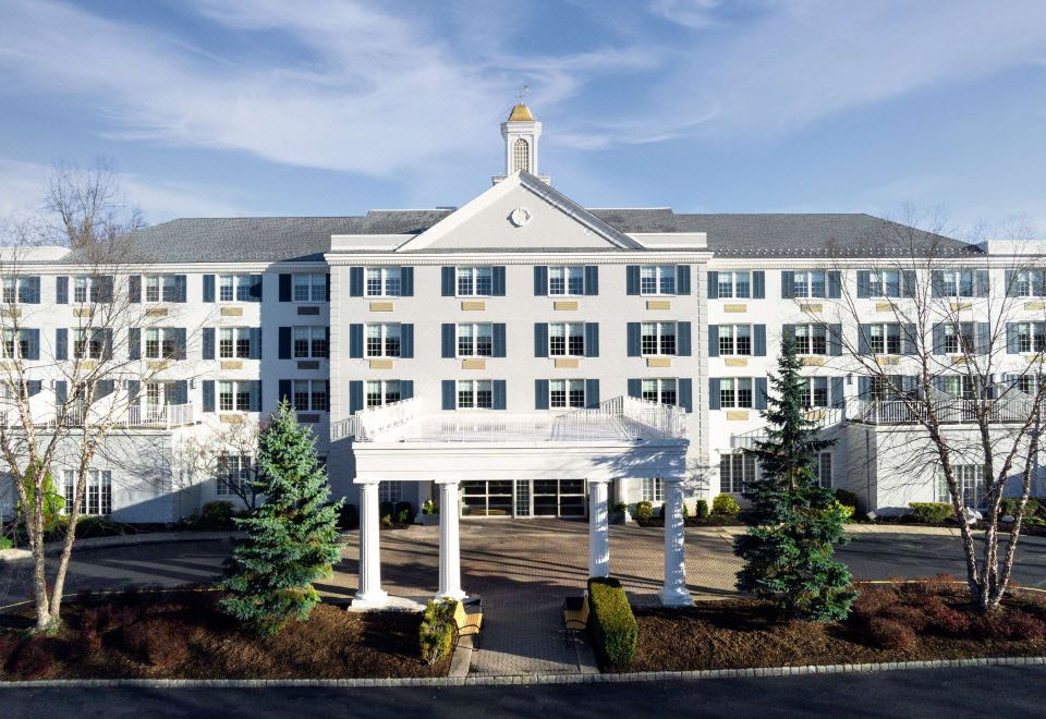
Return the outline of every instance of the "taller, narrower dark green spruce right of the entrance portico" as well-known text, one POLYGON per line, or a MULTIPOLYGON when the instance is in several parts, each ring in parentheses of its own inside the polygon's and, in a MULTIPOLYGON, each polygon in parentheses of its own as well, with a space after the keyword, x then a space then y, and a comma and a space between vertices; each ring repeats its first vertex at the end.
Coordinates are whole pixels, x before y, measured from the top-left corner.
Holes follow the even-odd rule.
POLYGON ((805 415, 802 361, 788 338, 777 366, 768 409, 759 413, 767 422, 767 439, 751 450, 761 476, 745 491, 753 523, 734 543, 744 562, 738 588, 803 619, 843 619, 856 592, 850 570, 832 553, 835 545, 847 541, 847 511, 813 472, 818 453, 835 440, 818 439, 817 423, 805 415))

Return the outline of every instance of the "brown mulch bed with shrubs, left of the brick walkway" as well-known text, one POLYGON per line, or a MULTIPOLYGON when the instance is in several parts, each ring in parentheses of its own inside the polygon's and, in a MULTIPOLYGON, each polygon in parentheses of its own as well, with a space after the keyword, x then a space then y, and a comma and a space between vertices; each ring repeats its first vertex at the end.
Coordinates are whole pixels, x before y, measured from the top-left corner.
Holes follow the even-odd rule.
POLYGON ((54 636, 27 638, 28 614, 0 616, 0 680, 351 679, 446 677, 418 655, 421 614, 319 605, 276 636, 244 630, 218 593, 111 595, 70 601, 54 636), (104 601, 101 600, 104 599, 104 601))

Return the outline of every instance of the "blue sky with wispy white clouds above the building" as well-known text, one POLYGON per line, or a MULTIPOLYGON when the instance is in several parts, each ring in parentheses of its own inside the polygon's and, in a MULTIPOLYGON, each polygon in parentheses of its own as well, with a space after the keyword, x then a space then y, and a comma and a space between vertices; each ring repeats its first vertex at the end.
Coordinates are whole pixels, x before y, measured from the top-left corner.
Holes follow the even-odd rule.
POLYGON ((519 87, 592 206, 1046 234, 1046 2, 0 3, 0 214, 111 158, 150 221, 462 205, 519 87))

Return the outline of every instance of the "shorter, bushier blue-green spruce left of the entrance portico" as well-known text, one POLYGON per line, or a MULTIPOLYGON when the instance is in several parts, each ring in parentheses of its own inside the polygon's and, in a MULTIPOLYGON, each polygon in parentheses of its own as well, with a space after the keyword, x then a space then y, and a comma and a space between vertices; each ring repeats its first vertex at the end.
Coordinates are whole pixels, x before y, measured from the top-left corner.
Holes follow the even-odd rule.
POLYGON ((265 501, 236 525, 247 533, 226 562, 222 608, 262 634, 304 621, 319 601, 313 582, 340 556, 338 512, 315 440, 287 402, 258 437, 255 491, 265 501))

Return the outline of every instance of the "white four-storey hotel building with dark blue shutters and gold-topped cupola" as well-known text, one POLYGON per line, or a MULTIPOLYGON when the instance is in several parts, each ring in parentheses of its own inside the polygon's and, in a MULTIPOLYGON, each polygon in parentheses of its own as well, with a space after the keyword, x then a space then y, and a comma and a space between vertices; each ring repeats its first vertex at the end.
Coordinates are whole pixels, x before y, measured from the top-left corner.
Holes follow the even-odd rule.
MULTIPOLYGON (((869 279, 883 239, 903 235, 905 252, 944 261, 933 281, 969 297, 972 325, 982 298, 1004 290, 1012 247, 867 215, 584 208, 538 173, 542 124, 525 106, 501 132, 504 174, 461 208, 181 219, 138 233, 114 287, 154 322, 111 341, 165 363, 162 382, 109 388, 135 393, 137 409, 98 458, 88 509, 171 522, 224 498, 228 477, 200 473, 184 448, 255 424, 288 397, 315 429, 335 495, 361 508, 365 535, 379 501, 416 509, 433 498, 447 543, 459 514, 591 515, 599 572, 608 503, 665 501, 672 600, 683 592, 669 566, 680 503, 740 496, 753 476, 741 450, 759 434, 767 375, 792 327, 812 411, 839 440, 818 463, 822 480, 864 509, 936 499, 933 473, 913 474, 889 451, 898 432, 916 441, 919 430, 869 411, 880 398, 843 349, 861 333, 829 309, 853 297, 903 376, 883 304, 927 279, 869 279)), ((68 391, 54 367, 75 349, 90 271, 77 253, 41 248, 20 265, 24 292, 5 292, 31 369, 38 361, 29 393, 41 412, 68 391)), ((1033 304, 1029 317, 1042 320, 1033 304)), ((250 465, 250 450, 226 463, 250 465)), ((362 566, 372 571, 362 601, 380 604, 375 564, 362 566)), ((452 563, 441 570, 441 593, 459 592, 452 563)))

